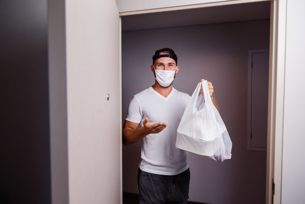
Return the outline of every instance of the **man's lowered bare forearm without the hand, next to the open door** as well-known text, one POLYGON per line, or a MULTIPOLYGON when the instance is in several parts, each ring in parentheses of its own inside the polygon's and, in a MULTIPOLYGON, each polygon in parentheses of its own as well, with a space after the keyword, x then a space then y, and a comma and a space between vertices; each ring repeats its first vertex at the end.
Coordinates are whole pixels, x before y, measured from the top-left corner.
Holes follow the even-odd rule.
POLYGON ((124 145, 133 144, 140 141, 146 135, 148 135, 148 133, 144 131, 144 127, 135 130, 132 129, 123 130, 122 143, 124 145))

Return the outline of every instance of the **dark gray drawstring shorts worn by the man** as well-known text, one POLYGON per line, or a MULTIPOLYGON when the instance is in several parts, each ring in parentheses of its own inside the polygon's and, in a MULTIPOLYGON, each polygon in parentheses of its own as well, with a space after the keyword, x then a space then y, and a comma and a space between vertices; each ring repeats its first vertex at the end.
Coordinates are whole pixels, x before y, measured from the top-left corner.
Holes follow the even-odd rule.
POLYGON ((190 169, 166 176, 138 169, 139 204, 186 204, 190 183, 190 169))

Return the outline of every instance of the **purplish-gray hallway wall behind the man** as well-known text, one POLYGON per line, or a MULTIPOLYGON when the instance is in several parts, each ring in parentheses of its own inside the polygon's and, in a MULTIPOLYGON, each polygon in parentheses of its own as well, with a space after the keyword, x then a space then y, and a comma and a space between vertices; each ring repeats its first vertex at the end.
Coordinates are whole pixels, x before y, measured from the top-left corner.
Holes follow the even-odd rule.
MULTIPOLYGON (((156 50, 178 56, 173 86, 192 95, 200 79, 211 81, 233 143, 232 158, 217 163, 189 154, 191 201, 264 203, 266 152, 247 151, 248 50, 269 48, 270 20, 196 25, 122 33, 122 117, 133 95, 154 84, 156 50)), ((266 87, 268 88, 268 87, 266 87)), ((123 146, 123 191, 138 193, 141 142, 123 146)))

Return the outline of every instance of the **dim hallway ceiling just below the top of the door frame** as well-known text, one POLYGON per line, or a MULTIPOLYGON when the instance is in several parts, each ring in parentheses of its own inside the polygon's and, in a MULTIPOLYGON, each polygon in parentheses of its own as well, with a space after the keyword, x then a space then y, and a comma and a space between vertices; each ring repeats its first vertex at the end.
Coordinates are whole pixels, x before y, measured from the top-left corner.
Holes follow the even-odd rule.
POLYGON ((122 31, 270 19, 270 1, 122 16, 122 31))

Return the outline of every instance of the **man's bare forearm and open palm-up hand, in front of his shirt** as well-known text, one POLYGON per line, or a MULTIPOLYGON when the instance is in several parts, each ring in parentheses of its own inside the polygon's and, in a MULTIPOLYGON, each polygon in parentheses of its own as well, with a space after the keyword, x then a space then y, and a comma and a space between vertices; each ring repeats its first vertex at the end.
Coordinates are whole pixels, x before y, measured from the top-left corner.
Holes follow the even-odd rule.
POLYGON ((146 135, 159 133, 167 126, 166 123, 150 124, 148 122, 148 117, 143 121, 142 128, 137 129, 138 125, 139 123, 125 120, 122 130, 122 143, 124 145, 136 143, 146 137, 146 135))

